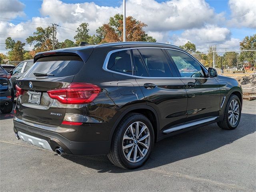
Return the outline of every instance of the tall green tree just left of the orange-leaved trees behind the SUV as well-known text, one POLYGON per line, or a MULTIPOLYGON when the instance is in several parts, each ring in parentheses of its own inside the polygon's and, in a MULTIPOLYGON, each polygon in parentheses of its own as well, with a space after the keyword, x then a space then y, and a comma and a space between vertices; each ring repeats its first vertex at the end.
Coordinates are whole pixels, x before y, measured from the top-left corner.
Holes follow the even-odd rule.
POLYGON ((90 39, 89 35, 89 29, 88 29, 89 24, 88 23, 82 23, 78 26, 76 29, 77 34, 74 36, 74 39, 76 40, 76 44, 80 44, 82 41, 83 42, 88 42, 90 39))

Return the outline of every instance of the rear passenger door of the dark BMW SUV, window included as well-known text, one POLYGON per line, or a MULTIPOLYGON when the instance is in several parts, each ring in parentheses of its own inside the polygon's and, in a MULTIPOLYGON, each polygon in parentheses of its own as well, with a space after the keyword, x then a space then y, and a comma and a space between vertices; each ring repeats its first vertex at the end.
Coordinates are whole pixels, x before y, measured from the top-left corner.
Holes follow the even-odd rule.
POLYGON ((183 124, 187 95, 169 58, 161 48, 132 49, 134 73, 146 103, 158 113, 160 130, 183 124), (169 62, 168 62, 169 61, 169 62))

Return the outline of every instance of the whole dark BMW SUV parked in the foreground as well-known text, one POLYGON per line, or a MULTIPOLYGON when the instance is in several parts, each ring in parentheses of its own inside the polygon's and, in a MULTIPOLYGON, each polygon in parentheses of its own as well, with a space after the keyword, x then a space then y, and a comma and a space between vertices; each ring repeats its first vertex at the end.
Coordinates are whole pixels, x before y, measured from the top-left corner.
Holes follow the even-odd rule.
POLYGON ((108 154, 116 166, 137 168, 154 142, 240 121, 238 82, 176 46, 81 46, 39 53, 34 62, 17 82, 14 132, 59 155, 108 154))

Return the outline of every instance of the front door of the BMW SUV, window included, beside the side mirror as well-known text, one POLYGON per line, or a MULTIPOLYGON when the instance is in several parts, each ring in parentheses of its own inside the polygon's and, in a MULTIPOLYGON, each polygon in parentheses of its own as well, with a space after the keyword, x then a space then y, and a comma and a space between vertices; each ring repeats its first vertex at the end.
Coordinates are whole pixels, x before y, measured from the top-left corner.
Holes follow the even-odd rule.
POLYGON ((215 78, 189 54, 167 49, 188 95, 187 122, 216 117, 220 110, 220 87, 215 78))

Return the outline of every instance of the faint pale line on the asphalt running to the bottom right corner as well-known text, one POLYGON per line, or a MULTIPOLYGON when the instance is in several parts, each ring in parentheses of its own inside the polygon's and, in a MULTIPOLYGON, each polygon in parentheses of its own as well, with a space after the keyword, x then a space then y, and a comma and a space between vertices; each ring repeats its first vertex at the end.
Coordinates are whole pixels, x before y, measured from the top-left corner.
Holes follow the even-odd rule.
POLYGON ((221 186, 221 187, 225 187, 225 188, 232 188, 232 189, 242 190, 242 191, 246 191, 246 192, 247 191, 251 191, 251 192, 254 191, 252 189, 242 188, 240 186, 235 186, 233 184, 221 183, 221 182, 213 181, 213 180, 210 180, 210 179, 198 178, 198 177, 179 174, 179 173, 175 173, 175 172, 166 172, 166 171, 156 170, 156 169, 148 169, 148 171, 158 172, 158 173, 164 174, 165 176, 175 176, 175 177, 182 177, 182 178, 186 178, 186 179, 194 180, 194 181, 207 182, 207 183, 210 183, 210 184, 213 184, 213 185, 216 185, 216 186, 221 186))

